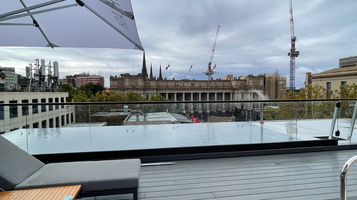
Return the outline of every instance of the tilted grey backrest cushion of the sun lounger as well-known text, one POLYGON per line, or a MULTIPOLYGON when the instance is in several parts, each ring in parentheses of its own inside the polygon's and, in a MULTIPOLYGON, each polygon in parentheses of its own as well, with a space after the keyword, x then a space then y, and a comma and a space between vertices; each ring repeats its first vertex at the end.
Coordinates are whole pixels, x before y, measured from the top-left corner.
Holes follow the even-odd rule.
POLYGON ((45 164, 0 135, 0 188, 9 191, 45 164))

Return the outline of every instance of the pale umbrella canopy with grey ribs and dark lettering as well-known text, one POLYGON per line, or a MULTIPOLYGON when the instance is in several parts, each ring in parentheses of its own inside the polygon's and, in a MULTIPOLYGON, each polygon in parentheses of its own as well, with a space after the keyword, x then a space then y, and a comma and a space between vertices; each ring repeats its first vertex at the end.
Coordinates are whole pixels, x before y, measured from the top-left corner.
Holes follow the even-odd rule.
POLYGON ((144 50, 130 0, 0 0, 0 46, 144 50))

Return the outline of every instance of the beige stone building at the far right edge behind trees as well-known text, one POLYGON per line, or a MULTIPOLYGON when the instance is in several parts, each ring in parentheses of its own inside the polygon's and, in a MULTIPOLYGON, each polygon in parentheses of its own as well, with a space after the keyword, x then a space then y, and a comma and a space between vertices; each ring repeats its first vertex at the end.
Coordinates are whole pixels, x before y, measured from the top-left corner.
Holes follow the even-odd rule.
MULTIPOLYGON (((327 91, 339 90, 340 86, 353 83, 357 83, 357 56, 341 58, 338 68, 316 74, 307 72, 305 78, 305 85, 319 84, 327 91)), ((327 93, 327 98, 330 98, 330 93, 327 93)))

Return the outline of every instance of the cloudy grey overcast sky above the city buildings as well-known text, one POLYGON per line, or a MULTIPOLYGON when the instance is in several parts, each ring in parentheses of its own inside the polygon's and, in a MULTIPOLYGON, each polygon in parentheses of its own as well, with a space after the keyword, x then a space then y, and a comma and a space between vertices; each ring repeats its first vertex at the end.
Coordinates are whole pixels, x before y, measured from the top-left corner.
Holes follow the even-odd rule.
MULTIPOLYGON (((207 71, 217 26, 220 25, 213 65, 213 78, 271 73, 287 76, 289 86, 290 17, 288 0, 132 0, 137 31, 145 47, 147 70, 154 76, 183 79, 207 71), (193 73, 189 73, 193 63, 193 73)), ((306 72, 337 68, 338 59, 357 56, 357 1, 293 0, 297 88, 306 72)), ((93 25, 95 26, 95 25, 93 25)), ((0 26, 0 28, 5 28, 0 26)), ((118 33, 119 34, 119 33, 118 33)), ((1 42, 1 41, 0 41, 1 42)), ((115 41, 113 41, 115 42, 115 41)), ((105 77, 141 72, 140 50, 109 48, 0 47, 0 65, 25 66, 36 58, 59 62, 60 78, 89 72, 105 77)), ((207 79, 195 75, 188 79, 207 79)))

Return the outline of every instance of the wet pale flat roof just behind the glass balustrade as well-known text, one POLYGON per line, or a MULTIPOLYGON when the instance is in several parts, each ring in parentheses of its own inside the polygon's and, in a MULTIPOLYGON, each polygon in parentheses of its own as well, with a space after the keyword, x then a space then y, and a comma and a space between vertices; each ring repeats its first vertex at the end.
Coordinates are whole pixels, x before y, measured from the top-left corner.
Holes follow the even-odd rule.
MULTIPOLYGON (((102 127, 30 128, 2 136, 30 154, 120 151, 319 140, 328 136, 332 119, 259 122, 184 123, 102 127), (23 133, 21 135, 21 133, 23 133)), ((339 119, 340 138, 347 139, 351 119, 339 119)), ((357 126, 355 126, 357 127, 357 126)), ((355 128, 357 129, 357 128, 355 128)), ((337 123, 335 131, 337 130, 337 123)), ((347 141, 338 141, 339 143, 347 141)), ((352 135, 357 142, 357 133, 352 135)))

